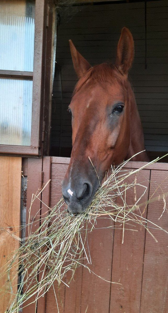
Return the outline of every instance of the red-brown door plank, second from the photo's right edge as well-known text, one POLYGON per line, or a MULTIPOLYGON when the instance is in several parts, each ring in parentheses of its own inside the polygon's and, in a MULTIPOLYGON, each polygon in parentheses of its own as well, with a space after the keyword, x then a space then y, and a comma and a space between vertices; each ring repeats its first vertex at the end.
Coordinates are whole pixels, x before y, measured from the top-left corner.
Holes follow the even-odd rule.
MULTIPOLYGON (((130 169, 131 170, 131 169, 130 169)), ((146 201, 148 200, 150 170, 142 170, 136 175, 131 175, 126 182, 129 184, 137 179, 137 183, 147 187, 140 203, 140 212, 144 210, 146 201)), ((141 186, 132 187, 126 192, 126 203, 134 205, 136 199, 143 194, 144 188, 141 186)), ((122 204, 121 198, 118 203, 122 204)), ((139 210, 136 211, 140 215, 139 210)), ((147 212, 143 214, 146 218, 147 212)), ((140 217, 139 217, 140 219, 140 217)), ((117 227, 119 223, 115 223, 117 227)), ((111 301, 109 313, 113 312, 140 312, 141 286, 143 275, 144 261, 144 244, 145 244, 145 228, 139 224, 130 221, 125 228, 136 229, 136 231, 125 230, 124 242, 123 231, 115 228, 114 230, 114 248, 113 248, 113 264, 112 264, 112 281, 120 282, 122 285, 113 284, 111 287, 111 301), (136 226, 136 227, 135 227, 136 226)))

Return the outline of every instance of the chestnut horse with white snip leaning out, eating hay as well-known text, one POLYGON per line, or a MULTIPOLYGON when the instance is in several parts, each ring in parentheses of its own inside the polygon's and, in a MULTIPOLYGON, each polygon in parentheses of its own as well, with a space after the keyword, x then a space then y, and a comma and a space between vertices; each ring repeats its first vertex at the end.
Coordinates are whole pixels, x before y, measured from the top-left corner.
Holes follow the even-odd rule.
POLYGON ((91 66, 71 40, 73 66, 79 78, 71 103, 72 152, 62 181, 70 213, 82 213, 92 202, 106 172, 123 160, 147 161, 144 136, 128 71, 134 59, 134 40, 124 27, 115 64, 91 66), (135 156, 140 151, 144 151, 135 156))

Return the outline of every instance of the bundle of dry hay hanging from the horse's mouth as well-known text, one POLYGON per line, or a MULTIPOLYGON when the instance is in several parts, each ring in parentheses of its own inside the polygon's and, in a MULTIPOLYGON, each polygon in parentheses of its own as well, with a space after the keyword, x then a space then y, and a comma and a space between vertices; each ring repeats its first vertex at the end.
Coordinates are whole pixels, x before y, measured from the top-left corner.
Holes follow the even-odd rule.
MULTIPOLYGON (((156 160, 150 163, 154 163, 156 160)), ((19 273, 22 273, 17 295, 8 309, 8 313, 18 312, 21 307, 27 306, 27 300, 30 300, 29 302, 32 301, 31 303, 37 302, 53 286, 55 280, 58 281, 58 284, 63 283, 67 285, 64 281, 64 276, 68 271, 71 271, 71 277, 73 278, 78 266, 87 267, 83 264, 83 259, 87 259, 88 264, 91 264, 90 254, 88 252, 87 255, 85 249, 87 232, 95 228, 98 217, 104 216, 114 222, 119 222, 122 225, 123 240, 124 231, 126 229, 133 230, 130 228, 130 221, 134 222, 135 225, 140 224, 145 227, 155 241, 157 239, 153 236, 151 229, 158 228, 165 231, 155 223, 145 219, 143 214, 140 213, 140 207, 143 206, 145 210, 148 205, 148 203, 140 203, 147 187, 142 183, 137 183, 136 178, 130 184, 125 182, 129 176, 138 173, 150 163, 140 169, 128 172, 123 169, 127 162, 124 162, 119 167, 111 168, 111 172, 107 174, 106 180, 97 190, 92 203, 83 214, 73 215, 68 213, 65 203, 61 199, 53 209, 50 209, 47 217, 41 218, 41 225, 34 233, 31 232, 34 221, 29 223, 29 237, 10 257, 8 269, 3 273, 5 275, 8 272, 9 279, 10 271, 13 267, 17 269, 17 275, 18 268, 19 273), (127 190, 130 188, 134 190, 136 186, 141 186, 143 192, 139 199, 135 197, 136 201, 133 206, 128 206, 126 203, 127 190), (116 201, 118 197, 122 199, 122 204, 120 205, 116 201), (18 261, 16 262, 16 260, 18 261), (41 277, 40 280, 38 279, 39 275, 41 277)), ((37 195, 33 195, 32 203, 34 203, 35 199, 39 199, 39 195, 40 192, 37 195)), ((166 209, 165 195, 160 195, 160 198, 163 201, 164 213, 166 209)), ((152 198, 151 201, 155 201, 155 199, 152 198)), ((136 229, 134 230, 136 231, 136 229)))

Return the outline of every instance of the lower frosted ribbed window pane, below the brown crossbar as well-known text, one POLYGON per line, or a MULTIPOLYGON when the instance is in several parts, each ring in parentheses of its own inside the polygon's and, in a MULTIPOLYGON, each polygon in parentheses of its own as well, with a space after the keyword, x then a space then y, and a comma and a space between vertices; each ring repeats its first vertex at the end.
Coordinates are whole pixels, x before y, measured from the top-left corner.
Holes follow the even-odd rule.
POLYGON ((32 80, 0 79, 0 144, 30 146, 32 80))

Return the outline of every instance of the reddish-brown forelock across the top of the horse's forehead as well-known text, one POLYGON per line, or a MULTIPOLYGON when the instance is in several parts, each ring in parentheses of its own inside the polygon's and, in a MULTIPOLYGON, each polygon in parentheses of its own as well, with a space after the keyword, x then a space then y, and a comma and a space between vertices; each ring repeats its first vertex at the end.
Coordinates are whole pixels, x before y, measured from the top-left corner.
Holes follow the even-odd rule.
POLYGON ((101 85, 106 83, 120 84, 124 87, 123 75, 118 71, 116 66, 112 63, 102 63, 87 70, 77 82, 73 94, 76 94, 84 84, 92 82, 101 85))

